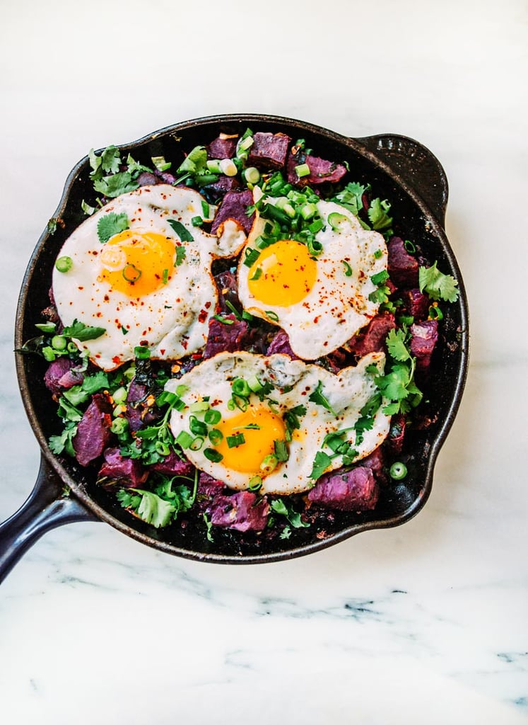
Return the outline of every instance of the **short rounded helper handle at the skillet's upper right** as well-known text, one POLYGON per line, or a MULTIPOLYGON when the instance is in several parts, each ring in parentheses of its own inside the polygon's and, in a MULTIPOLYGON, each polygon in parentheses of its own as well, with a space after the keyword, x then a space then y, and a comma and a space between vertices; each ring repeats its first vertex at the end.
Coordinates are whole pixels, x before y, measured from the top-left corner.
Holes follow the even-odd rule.
POLYGON ((422 197, 440 224, 445 225, 448 179, 435 154, 419 141, 397 133, 366 136, 356 141, 401 176, 422 197))

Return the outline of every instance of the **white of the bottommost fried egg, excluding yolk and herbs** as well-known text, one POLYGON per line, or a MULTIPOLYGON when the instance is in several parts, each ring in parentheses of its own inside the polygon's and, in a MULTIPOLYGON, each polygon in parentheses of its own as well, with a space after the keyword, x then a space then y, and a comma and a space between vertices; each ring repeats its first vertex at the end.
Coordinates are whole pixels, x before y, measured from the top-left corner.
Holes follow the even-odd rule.
MULTIPOLYGON (((358 365, 344 368, 338 375, 330 373, 319 365, 304 363, 303 360, 292 360, 288 355, 256 355, 251 352, 221 352, 209 360, 196 365, 193 370, 178 379, 167 382, 166 389, 176 392, 185 386, 181 394, 185 408, 173 410, 170 426, 175 438, 181 431, 190 430, 189 406, 209 397, 211 407, 222 414, 222 418, 238 415, 239 410, 230 410, 228 401, 232 396, 231 381, 234 378, 249 380, 254 376, 262 384, 271 383, 273 391, 272 410, 284 415, 298 405, 306 407, 306 414, 300 418, 300 428, 293 431, 292 440, 288 443, 289 457, 285 463, 279 463, 272 473, 262 479, 261 492, 269 494, 293 494, 306 491, 314 485, 311 471, 318 450, 323 449, 327 434, 353 428, 360 418, 361 408, 378 392, 374 383, 374 375, 368 371, 369 365, 375 365, 382 373, 385 365, 383 353, 371 353, 363 357, 358 365), (324 397, 330 403, 333 413, 318 402, 309 399, 318 385, 324 397)), ((251 394, 250 405, 255 407, 269 405, 267 400, 261 402, 256 394, 251 394)), ((364 432, 364 438, 356 444, 355 432, 348 431, 345 440, 351 442, 357 450, 355 460, 361 460, 376 449, 386 438, 390 427, 390 416, 382 412, 382 407, 374 415, 372 428, 364 432)), ((241 473, 227 468, 222 461, 214 463, 204 455, 204 448, 210 445, 204 442, 201 450, 185 450, 188 459, 201 471, 219 481, 224 481, 232 489, 247 489, 253 473, 241 473)), ((324 449, 329 452, 328 449, 324 449)), ((330 451, 331 453, 331 451, 330 451)), ((327 471, 335 470, 343 465, 343 457, 332 458, 327 471)))

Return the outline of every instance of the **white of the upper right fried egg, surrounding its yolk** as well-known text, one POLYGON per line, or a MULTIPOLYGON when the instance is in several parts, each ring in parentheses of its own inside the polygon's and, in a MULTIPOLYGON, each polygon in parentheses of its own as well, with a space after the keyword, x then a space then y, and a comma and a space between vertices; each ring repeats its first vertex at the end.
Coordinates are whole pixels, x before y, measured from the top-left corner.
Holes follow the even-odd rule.
MULTIPOLYGON (((301 302, 284 305, 277 294, 275 304, 262 303, 249 289, 245 254, 238 265, 240 302, 252 315, 282 327, 293 352, 303 360, 329 355, 369 323, 380 307, 369 299, 377 289, 371 277, 387 269, 387 247, 379 232, 362 228, 356 216, 340 204, 320 201, 317 210, 324 222, 315 235, 322 252, 316 257, 317 279, 301 302), (332 212, 345 218, 337 229, 328 223, 332 212)), ((265 223, 257 212, 246 249, 256 248, 265 223)))

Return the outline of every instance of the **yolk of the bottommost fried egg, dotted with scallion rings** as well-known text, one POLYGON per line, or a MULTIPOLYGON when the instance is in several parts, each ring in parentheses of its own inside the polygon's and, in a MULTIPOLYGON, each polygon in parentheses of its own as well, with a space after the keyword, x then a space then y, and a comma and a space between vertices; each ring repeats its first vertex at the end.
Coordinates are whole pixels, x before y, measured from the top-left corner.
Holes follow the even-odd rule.
POLYGON ((275 441, 285 440, 285 424, 269 408, 248 407, 243 413, 222 420, 217 428, 223 435, 216 446, 223 456, 222 465, 240 473, 265 475, 261 469, 264 458, 275 452, 275 441), (238 445, 234 445, 235 436, 240 441, 238 445))

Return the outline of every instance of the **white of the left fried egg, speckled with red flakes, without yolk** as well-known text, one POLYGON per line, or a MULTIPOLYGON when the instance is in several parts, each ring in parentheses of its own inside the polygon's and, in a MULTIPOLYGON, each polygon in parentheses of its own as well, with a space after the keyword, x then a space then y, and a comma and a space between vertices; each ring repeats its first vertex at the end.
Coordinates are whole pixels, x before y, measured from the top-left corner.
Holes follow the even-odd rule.
MULTIPOLYGON (((204 216, 203 199, 190 188, 142 186, 106 204, 64 242, 58 256, 70 257, 72 266, 66 273, 54 269, 56 309, 64 326, 79 320, 105 329, 96 339, 77 340, 80 349, 104 370, 132 360, 134 348, 140 344, 148 347, 151 357, 171 360, 204 346, 217 305, 211 262, 238 254, 246 234, 234 223, 227 223, 218 239, 193 226, 193 217, 204 216), (160 233, 185 246, 185 258, 160 289, 135 298, 99 279, 104 245, 99 241, 97 225, 112 212, 125 213, 131 230, 160 233), (180 242, 168 220, 182 223, 193 241, 180 242)), ((211 218, 215 211, 211 206, 211 218)))

